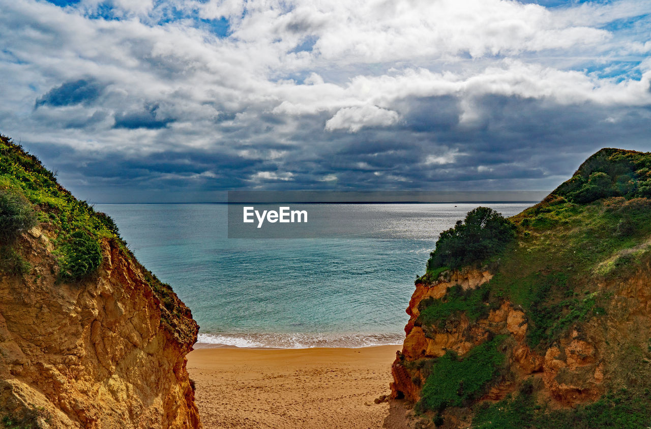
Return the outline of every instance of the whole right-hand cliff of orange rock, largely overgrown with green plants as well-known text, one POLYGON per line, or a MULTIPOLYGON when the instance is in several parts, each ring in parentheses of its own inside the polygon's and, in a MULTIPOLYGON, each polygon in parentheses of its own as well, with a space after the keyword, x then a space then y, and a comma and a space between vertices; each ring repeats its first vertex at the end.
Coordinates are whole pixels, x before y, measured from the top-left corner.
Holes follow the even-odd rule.
POLYGON ((392 367, 419 424, 649 425, 650 172, 651 154, 600 150, 509 219, 503 249, 462 267, 440 266, 442 234, 392 367))

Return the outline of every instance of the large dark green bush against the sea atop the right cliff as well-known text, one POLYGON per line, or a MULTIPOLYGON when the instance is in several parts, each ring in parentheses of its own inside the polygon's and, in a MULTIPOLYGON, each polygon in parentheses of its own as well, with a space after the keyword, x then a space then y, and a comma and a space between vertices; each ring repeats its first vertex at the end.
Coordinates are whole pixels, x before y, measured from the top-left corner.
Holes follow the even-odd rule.
POLYGON ((436 249, 430 254, 427 270, 447 266, 451 269, 483 262, 506 247, 515 237, 516 226, 492 208, 477 207, 464 221, 441 232, 436 249))

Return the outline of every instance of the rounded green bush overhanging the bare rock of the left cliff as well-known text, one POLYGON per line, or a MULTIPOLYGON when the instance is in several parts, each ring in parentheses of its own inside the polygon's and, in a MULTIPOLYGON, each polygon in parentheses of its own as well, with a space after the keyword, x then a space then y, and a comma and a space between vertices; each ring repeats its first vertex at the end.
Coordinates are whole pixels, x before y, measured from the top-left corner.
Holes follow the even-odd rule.
POLYGON ((59 277, 64 281, 78 281, 88 277, 102 263, 102 249, 90 234, 74 232, 64 246, 65 256, 59 277))

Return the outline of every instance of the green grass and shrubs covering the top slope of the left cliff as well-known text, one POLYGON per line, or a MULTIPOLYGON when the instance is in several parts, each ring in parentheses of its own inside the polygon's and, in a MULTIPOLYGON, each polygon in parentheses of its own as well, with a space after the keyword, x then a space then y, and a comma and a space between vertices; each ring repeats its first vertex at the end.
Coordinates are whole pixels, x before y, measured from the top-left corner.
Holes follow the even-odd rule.
POLYGON ((25 275, 31 266, 21 256, 16 238, 40 224, 46 228, 57 257, 59 280, 74 283, 92 277, 102 264, 100 242, 110 240, 145 273, 161 306, 162 318, 186 315, 169 284, 162 283, 137 262, 111 217, 96 212, 62 187, 55 174, 10 138, 0 135, 0 275, 25 275))

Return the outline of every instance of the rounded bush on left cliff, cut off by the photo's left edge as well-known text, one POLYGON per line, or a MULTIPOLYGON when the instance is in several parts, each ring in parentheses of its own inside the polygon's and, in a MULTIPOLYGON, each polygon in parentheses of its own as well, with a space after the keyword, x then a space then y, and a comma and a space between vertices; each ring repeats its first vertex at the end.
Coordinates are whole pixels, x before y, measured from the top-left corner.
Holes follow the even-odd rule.
POLYGON ((0 241, 10 243, 36 225, 32 205, 16 191, 0 189, 0 241))

